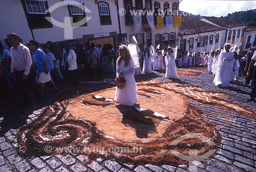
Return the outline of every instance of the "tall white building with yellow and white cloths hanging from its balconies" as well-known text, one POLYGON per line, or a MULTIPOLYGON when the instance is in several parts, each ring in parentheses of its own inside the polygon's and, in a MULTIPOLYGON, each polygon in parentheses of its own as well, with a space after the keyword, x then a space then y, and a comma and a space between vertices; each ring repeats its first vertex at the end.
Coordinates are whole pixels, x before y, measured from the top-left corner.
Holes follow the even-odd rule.
MULTIPOLYGON (((165 16, 177 16, 179 9, 179 1, 151 1, 151 0, 124 0, 119 2, 119 8, 124 8, 126 14, 120 16, 122 33, 127 34, 127 39, 131 41, 133 36, 136 36, 140 47, 156 46, 160 44, 160 48, 167 48, 168 45, 175 46, 178 42, 179 27, 167 28, 165 23, 165 16), (131 10, 139 10, 144 12, 146 10, 154 12, 153 25, 148 23, 146 15, 142 15, 139 23, 131 15, 131 10), (159 24, 159 18, 163 23, 159 24), (135 21, 134 21, 135 20, 135 21)), ((175 19, 174 19, 175 20, 175 19)), ((177 21, 178 22, 178 21, 177 21)))

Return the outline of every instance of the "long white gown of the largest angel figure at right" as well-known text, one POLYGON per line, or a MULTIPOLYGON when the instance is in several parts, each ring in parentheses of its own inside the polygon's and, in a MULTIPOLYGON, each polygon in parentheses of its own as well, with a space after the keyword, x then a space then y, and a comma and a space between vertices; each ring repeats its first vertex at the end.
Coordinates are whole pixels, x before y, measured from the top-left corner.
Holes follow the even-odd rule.
POLYGON ((222 87, 229 87, 229 78, 233 67, 233 53, 222 51, 219 55, 217 66, 214 84, 216 86, 221 84, 222 87))

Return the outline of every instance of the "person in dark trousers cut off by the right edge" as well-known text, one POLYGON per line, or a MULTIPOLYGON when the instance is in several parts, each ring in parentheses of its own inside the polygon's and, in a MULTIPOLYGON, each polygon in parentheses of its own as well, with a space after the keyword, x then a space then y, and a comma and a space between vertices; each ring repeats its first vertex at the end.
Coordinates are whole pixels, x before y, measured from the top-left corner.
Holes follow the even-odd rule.
POLYGON ((248 101, 254 101, 256 97, 256 51, 254 51, 253 56, 251 58, 251 62, 246 73, 246 77, 250 77, 251 75, 251 91, 248 101))

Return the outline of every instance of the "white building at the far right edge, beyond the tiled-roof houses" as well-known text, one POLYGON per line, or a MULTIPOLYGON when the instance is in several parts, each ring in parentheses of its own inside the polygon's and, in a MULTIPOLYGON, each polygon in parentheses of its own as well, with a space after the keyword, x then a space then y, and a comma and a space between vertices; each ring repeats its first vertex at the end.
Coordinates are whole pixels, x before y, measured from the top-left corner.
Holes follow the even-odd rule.
POLYGON ((253 52, 256 49, 256 27, 248 26, 245 28, 242 50, 253 52))

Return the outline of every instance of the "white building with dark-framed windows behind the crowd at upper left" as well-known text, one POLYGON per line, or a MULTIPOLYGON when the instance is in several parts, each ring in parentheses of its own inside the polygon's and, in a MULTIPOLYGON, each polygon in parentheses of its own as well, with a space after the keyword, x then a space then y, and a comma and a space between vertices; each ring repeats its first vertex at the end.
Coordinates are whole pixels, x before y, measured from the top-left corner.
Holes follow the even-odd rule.
POLYGON ((66 40, 72 45, 79 41, 117 44, 120 29, 115 1, 74 1, 78 4, 67 0, 1 1, 2 44, 12 32, 20 35, 24 43, 35 39, 41 43, 66 40))

